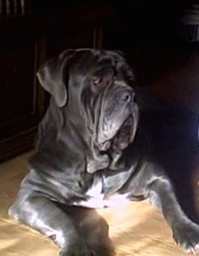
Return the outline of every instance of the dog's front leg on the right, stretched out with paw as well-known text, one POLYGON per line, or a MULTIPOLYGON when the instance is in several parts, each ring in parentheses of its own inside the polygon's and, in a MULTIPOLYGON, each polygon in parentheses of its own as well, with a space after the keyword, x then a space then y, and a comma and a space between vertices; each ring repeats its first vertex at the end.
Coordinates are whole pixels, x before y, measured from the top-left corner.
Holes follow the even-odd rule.
POLYGON ((149 199, 163 212, 177 244, 187 252, 199 253, 199 226, 182 211, 168 177, 160 176, 150 184, 149 199))

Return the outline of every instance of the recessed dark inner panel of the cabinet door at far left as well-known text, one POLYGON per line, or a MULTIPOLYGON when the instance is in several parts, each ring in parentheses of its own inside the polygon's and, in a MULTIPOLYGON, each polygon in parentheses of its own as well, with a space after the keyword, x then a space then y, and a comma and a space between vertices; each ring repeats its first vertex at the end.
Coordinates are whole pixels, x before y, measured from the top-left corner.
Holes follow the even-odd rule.
POLYGON ((0 38, 0 126, 33 112, 35 44, 30 38, 0 38), (27 86, 24 86, 27 84, 27 86))

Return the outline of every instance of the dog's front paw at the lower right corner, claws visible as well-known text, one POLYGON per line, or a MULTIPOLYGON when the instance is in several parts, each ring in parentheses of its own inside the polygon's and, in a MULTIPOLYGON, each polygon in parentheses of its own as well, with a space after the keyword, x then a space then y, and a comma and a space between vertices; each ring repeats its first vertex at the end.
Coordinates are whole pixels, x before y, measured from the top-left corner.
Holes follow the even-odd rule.
POLYGON ((187 252, 199 254, 199 226, 195 223, 181 223, 173 228, 174 240, 187 252))

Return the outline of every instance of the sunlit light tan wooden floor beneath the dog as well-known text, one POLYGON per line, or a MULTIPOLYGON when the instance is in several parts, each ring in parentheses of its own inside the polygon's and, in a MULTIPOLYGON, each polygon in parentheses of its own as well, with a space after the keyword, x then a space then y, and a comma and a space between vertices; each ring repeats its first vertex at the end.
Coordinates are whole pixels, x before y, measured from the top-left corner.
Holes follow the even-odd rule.
MULTIPOLYGON (((58 248, 52 241, 25 225, 9 220, 7 216, 7 209, 15 199, 20 181, 27 172, 26 160, 29 155, 28 152, 0 164, 0 255, 2 256, 58 255, 58 248)), ((86 223, 86 227, 83 227, 85 236, 94 247, 98 248, 99 256, 108 255, 107 251, 112 249, 112 245, 118 256, 187 255, 174 243, 171 231, 161 213, 151 207, 147 201, 135 202, 126 207, 99 209, 97 212, 88 210, 81 217, 86 223), (112 242, 109 241, 108 235, 112 242), (107 247, 107 250, 100 246, 107 247)))

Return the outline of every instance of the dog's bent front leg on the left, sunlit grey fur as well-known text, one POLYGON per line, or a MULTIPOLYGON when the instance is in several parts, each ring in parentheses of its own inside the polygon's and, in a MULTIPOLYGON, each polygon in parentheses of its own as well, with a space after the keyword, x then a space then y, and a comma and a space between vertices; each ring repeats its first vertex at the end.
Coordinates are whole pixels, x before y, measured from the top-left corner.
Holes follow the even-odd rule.
POLYGON ((57 204, 45 197, 18 199, 10 207, 9 215, 51 237, 61 248, 60 256, 93 255, 81 235, 78 224, 57 207, 57 204))

